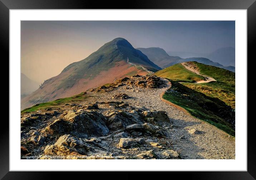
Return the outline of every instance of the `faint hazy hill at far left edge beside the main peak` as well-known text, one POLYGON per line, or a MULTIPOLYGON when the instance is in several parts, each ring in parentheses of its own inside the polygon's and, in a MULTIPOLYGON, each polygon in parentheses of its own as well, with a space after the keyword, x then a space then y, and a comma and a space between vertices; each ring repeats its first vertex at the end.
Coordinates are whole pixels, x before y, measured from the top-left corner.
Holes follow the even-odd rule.
POLYGON ((21 81, 21 87, 20 87, 21 98, 24 98, 25 96, 28 96, 29 94, 33 93, 39 87, 38 82, 31 80, 23 73, 20 74, 20 81, 21 81))

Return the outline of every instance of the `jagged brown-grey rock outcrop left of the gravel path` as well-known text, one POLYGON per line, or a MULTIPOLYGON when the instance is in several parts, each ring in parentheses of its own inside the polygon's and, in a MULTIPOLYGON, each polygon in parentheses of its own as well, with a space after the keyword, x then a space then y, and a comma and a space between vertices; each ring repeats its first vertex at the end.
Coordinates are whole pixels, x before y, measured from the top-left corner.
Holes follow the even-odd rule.
POLYGON ((86 92, 83 101, 23 113, 21 154, 39 159, 176 158, 176 151, 168 151, 171 121, 166 112, 130 104, 136 98, 112 92, 164 86, 166 81, 158 77, 137 75, 86 92), (101 93, 107 94, 98 98, 101 93))

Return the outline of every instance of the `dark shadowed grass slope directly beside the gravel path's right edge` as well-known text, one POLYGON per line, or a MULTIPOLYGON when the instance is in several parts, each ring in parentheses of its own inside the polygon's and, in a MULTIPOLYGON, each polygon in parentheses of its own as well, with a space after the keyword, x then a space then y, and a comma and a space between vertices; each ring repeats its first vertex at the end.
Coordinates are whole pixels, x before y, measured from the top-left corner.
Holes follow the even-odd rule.
POLYGON ((163 95, 164 99, 181 106, 196 118, 235 136, 235 127, 231 123, 235 121, 235 112, 232 112, 230 106, 218 98, 206 96, 181 83, 170 81, 172 87, 163 95))

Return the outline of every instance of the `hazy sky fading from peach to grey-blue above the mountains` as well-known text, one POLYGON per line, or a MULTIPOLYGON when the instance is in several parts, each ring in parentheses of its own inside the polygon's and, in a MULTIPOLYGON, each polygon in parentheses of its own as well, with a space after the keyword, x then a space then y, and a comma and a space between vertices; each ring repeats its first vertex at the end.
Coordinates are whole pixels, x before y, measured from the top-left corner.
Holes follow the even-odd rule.
POLYGON ((235 47, 235 21, 21 21, 21 72, 42 83, 104 43, 210 53, 235 47))

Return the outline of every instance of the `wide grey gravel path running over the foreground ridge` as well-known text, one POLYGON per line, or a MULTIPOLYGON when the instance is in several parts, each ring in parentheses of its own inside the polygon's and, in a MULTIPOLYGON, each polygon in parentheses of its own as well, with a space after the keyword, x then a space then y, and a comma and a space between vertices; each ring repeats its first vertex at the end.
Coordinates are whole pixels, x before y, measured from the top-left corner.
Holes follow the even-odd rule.
POLYGON ((171 106, 163 102, 161 94, 171 87, 169 81, 167 87, 161 89, 132 87, 124 89, 121 86, 110 92, 88 92, 93 95, 94 101, 113 101, 111 97, 118 93, 125 93, 132 97, 122 99, 131 106, 141 106, 148 109, 164 110, 172 120, 172 128, 168 129, 168 137, 171 139, 172 148, 183 159, 235 159, 235 138, 208 124, 194 118, 181 108, 171 106), (190 134, 188 130, 196 129, 200 134, 190 134))

